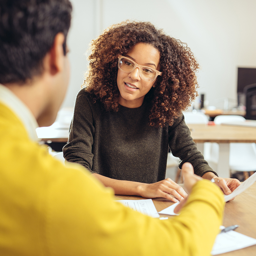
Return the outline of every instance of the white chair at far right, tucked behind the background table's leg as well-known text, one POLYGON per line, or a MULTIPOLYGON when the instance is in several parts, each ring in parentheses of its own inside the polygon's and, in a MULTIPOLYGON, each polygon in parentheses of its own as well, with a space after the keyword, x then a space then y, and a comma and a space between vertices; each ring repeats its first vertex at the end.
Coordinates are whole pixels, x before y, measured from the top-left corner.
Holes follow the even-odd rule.
MULTIPOLYGON (((243 116, 223 115, 214 118, 215 124, 228 122, 245 122, 243 116)), ((212 143, 211 156, 218 161, 219 144, 212 143)), ((244 179, 256 171, 256 144, 255 143, 230 143, 229 146, 229 169, 231 173, 243 172, 244 179)))

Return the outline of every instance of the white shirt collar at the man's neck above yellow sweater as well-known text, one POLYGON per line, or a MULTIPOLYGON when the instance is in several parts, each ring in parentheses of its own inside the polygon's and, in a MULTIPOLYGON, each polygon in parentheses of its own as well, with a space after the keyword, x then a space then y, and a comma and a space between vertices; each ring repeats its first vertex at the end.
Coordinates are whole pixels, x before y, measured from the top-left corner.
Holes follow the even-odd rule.
MULTIPOLYGON (((21 85, 22 86, 22 85, 21 85)), ((38 141, 38 124, 30 109, 6 86, 0 84, 0 101, 8 106, 21 120, 31 140, 38 141)))

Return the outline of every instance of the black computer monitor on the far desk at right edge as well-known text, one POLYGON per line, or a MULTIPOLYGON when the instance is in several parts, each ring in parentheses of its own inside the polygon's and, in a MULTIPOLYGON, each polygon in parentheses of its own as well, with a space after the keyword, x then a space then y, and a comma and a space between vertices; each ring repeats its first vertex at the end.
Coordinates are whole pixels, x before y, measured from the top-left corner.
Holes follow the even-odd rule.
POLYGON ((256 68, 238 68, 237 72, 237 101, 245 106, 244 87, 256 83, 256 68))

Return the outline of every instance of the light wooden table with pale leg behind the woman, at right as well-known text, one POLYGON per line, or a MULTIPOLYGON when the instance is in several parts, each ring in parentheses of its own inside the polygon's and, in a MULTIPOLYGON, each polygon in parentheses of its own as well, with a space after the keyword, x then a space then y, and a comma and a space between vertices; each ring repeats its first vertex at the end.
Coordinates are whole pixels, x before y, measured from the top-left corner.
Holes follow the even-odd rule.
POLYGON ((217 142, 220 145, 217 173, 222 178, 229 178, 229 143, 256 142, 256 128, 231 125, 188 124, 191 137, 199 151, 204 152, 204 142, 217 142))

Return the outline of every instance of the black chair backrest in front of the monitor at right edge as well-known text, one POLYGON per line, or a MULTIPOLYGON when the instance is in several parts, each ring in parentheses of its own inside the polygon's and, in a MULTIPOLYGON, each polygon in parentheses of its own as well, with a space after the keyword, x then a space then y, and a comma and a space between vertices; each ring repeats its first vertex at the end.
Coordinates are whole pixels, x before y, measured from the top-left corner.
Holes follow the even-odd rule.
POLYGON ((246 99, 246 119, 256 120, 256 84, 249 84, 244 87, 246 99))

